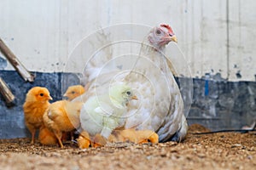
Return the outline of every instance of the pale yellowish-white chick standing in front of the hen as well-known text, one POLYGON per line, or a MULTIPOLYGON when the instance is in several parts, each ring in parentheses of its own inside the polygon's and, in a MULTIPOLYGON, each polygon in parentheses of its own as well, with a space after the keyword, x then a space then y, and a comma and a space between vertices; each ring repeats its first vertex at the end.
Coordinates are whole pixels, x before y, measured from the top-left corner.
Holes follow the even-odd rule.
POLYGON ((81 109, 81 127, 91 136, 100 133, 108 139, 114 128, 122 126, 121 116, 131 99, 137 99, 137 96, 130 87, 123 84, 113 85, 108 94, 92 96, 81 109))

